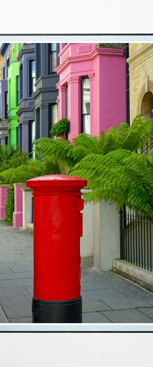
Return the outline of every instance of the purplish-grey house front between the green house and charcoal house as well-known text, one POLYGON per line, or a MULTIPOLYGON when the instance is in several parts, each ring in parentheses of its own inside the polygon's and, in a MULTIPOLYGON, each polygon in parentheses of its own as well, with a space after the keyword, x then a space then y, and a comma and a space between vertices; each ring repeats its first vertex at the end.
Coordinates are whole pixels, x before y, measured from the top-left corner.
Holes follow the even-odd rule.
POLYGON ((35 115, 32 108, 36 81, 35 44, 24 44, 17 59, 19 61, 18 143, 22 152, 30 153, 35 140, 35 115))

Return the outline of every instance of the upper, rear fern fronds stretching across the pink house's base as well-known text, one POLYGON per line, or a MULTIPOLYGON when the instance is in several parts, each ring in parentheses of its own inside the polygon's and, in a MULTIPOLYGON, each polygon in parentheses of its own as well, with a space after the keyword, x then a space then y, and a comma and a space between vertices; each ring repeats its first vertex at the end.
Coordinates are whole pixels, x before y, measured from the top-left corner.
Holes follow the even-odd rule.
POLYGON ((35 142, 35 152, 38 159, 56 159, 74 167, 88 154, 106 155, 112 150, 127 149, 131 152, 144 146, 147 139, 152 137, 153 119, 145 121, 142 116, 136 116, 132 125, 119 124, 110 127, 107 134, 101 131, 98 136, 80 134, 71 143, 64 139, 40 138, 35 142))

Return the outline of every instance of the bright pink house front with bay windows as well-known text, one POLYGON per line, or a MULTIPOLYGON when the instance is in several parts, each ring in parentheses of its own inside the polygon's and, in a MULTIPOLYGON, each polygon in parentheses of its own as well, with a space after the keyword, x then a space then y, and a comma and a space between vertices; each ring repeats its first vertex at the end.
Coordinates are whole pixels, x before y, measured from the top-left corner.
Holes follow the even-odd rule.
POLYGON ((70 120, 68 141, 126 121, 124 50, 94 43, 60 44, 58 120, 70 120))

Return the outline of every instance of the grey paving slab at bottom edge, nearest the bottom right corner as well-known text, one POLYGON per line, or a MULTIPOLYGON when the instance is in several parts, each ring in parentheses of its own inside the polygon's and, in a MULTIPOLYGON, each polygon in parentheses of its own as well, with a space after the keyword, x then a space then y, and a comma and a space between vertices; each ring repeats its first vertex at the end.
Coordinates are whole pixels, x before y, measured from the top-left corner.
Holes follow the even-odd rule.
POLYGON ((152 323, 150 317, 143 315, 139 310, 116 310, 116 311, 102 311, 102 315, 108 317, 113 323, 152 323))

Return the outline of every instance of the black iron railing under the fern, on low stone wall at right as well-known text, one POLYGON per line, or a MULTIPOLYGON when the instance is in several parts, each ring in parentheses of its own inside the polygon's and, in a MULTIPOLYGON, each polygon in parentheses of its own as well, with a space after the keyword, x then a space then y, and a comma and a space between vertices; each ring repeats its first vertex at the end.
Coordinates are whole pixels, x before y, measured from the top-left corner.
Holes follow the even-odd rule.
POLYGON ((120 209, 120 259, 152 271, 153 220, 150 214, 120 209))

